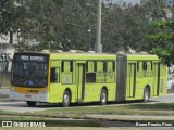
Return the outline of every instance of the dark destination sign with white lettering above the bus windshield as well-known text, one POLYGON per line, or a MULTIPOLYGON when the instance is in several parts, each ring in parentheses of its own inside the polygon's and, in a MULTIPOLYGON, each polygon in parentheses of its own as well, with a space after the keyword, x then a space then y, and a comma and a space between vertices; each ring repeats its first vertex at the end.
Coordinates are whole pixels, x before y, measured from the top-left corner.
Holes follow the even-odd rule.
POLYGON ((36 62, 46 62, 45 56, 34 56, 34 55, 16 55, 17 61, 36 61, 36 62))

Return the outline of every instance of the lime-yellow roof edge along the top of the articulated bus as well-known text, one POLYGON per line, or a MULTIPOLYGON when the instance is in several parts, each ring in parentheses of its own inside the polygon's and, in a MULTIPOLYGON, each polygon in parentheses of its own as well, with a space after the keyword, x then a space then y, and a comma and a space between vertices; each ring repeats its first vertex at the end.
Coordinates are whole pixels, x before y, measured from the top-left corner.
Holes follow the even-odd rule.
POLYGON ((159 60, 157 55, 148 53, 89 53, 89 52, 15 52, 17 54, 48 54, 51 60, 116 60, 116 56, 125 56, 127 60, 159 60))

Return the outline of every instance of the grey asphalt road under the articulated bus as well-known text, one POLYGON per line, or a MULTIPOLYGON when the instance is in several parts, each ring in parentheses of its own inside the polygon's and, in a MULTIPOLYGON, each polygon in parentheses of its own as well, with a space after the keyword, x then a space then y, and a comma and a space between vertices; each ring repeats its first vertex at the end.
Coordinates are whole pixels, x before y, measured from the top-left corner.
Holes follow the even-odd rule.
MULTIPOLYGON (((174 102, 174 93, 170 93, 160 98, 152 98, 150 99, 149 103, 170 103, 174 102)), ((139 104, 142 102, 124 102, 124 103, 109 103, 108 105, 111 106, 120 106, 120 105, 128 105, 128 104, 139 104)), ((71 107, 96 107, 99 106, 98 103, 90 103, 90 104, 73 104, 71 107)), ((62 107, 59 104, 46 104, 46 103, 38 103, 35 107, 28 107, 27 104, 23 101, 9 101, 0 99, 0 109, 1 110, 9 110, 9 112, 36 112, 36 110, 46 110, 51 108, 62 107)))

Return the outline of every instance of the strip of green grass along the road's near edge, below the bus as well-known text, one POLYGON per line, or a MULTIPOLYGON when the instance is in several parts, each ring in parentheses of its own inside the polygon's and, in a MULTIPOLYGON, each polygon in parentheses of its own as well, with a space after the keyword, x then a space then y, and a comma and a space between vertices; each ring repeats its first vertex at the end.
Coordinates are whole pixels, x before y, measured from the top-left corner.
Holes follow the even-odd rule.
MULTIPOLYGON (((25 113, 30 114, 30 113, 25 113)), ((32 113, 52 117, 85 117, 87 114, 108 115, 174 115, 174 103, 132 104, 123 106, 69 107, 53 108, 32 113)))

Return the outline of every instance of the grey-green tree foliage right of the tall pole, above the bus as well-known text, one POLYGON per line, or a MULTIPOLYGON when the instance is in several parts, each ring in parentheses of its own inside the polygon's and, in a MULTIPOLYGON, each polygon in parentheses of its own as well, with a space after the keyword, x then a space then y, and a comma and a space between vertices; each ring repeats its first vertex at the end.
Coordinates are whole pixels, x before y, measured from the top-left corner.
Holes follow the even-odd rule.
POLYGON ((102 24, 104 51, 116 52, 127 50, 127 47, 136 51, 152 50, 152 42, 145 37, 158 31, 158 28, 149 26, 149 22, 163 17, 163 0, 146 0, 140 5, 109 6, 102 24))

